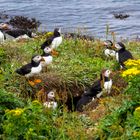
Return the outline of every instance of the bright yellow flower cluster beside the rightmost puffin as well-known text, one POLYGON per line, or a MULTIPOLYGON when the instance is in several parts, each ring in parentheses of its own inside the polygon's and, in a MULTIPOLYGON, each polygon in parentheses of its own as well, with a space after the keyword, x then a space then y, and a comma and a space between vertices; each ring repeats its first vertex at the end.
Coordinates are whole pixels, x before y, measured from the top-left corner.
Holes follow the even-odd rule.
POLYGON ((129 67, 131 66, 131 68, 125 70, 122 73, 123 77, 134 76, 134 75, 140 74, 140 59, 138 59, 138 60, 128 60, 128 61, 125 62, 125 65, 129 66, 129 67))

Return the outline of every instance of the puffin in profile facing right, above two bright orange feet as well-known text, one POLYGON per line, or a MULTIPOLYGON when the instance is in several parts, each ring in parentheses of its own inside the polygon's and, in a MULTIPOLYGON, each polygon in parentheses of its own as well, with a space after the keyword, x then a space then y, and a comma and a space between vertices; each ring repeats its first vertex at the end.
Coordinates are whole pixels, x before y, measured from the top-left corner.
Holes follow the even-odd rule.
POLYGON ((25 76, 26 78, 33 77, 36 74, 39 74, 42 70, 41 61, 44 59, 40 55, 35 55, 31 59, 31 63, 28 63, 21 68, 17 69, 15 72, 25 76))

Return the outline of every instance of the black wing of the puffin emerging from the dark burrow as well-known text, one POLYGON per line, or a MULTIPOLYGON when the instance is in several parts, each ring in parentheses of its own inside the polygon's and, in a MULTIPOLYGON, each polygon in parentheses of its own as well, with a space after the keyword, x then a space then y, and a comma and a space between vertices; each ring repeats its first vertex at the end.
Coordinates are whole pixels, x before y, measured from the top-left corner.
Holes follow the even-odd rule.
POLYGON ((85 96, 94 97, 102 90, 100 80, 97 80, 93 85, 84 93, 85 96))

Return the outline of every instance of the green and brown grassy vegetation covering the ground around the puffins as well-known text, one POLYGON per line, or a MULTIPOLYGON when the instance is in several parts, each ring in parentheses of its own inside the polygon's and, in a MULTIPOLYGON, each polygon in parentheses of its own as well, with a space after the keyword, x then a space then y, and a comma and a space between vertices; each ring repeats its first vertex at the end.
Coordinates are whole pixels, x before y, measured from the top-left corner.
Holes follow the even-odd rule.
MULTIPOLYGON (((135 67, 140 71, 139 60, 128 63, 129 72, 122 73, 115 59, 103 55, 102 41, 63 38, 58 56, 54 56, 47 72, 37 76, 41 82, 31 85, 15 70, 30 62, 33 54, 41 54, 40 45, 50 35, 0 45, 0 138, 139 139, 140 73, 131 70, 135 67), (67 100, 80 96, 104 68, 113 71, 111 94, 91 102, 83 113, 69 111, 67 100), (57 110, 42 105, 38 98, 42 89, 56 92, 57 110)), ((139 59, 140 43, 125 44, 139 59)))

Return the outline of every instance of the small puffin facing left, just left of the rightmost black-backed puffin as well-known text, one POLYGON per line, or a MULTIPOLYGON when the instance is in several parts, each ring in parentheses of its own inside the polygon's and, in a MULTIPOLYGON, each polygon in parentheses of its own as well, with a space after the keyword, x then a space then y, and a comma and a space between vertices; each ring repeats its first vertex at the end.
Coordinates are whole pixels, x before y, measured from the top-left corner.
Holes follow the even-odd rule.
POLYGON ((106 47, 106 49, 104 50, 105 56, 107 56, 107 57, 115 57, 116 51, 114 51, 112 49, 112 47, 113 47, 112 41, 111 40, 104 41, 104 46, 106 47))

